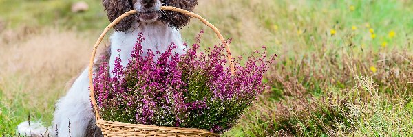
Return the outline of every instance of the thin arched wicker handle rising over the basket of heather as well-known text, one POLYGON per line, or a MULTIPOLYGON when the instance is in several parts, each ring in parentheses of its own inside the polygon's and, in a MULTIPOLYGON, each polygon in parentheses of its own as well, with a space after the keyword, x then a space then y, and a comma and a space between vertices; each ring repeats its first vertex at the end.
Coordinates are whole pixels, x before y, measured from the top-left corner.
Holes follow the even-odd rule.
MULTIPOLYGON (((229 63, 229 66, 231 68, 231 74, 234 73, 235 71, 235 67, 232 60, 232 55, 231 55, 231 50, 229 49, 229 44, 225 41, 224 37, 222 36, 222 34, 220 33, 220 31, 211 23, 209 23, 209 21, 207 21, 205 18, 202 18, 202 16, 195 14, 193 12, 189 12, 188 10, 183 10, 180 8, 175 8, 175 7, 171 7, 171 6, 162 6, 160 7, 161 10, 170 10, 170 11, 174 11, 174 12, 180 12, 182 14, 186 14, 189 16, 192 16, 193 18, 198 18, 200 21, 202 21, 202 23, 204 23, 205 25, 211 27, 211 29, 213 29, 213 31, 217 34, 218 38, 220 38, 220 40, 222 41, 222 44, 224 44, 225 49, 226 49, 226 53, 227 53, 227 62, 229 63)), ((125 12, 124 14, 120 15, 118 18, 116 18, 112 23, 110 23, 109 25, 107 25, 107 27, 105 28, 105 30, 103 30, 102 34, 100 34, 99 39, 96 41, 94 47, 93 47, 93 51, 92 51, 92 55, 90 57, 89 60, 89 88, 90 88, 90 100, 92 101, 92 105, 94 108, 94 112, 95 112, 95 118, 96 120, 101 119, 100 118, 100 114, 99 114, 99 110, 98 110, 98 106, 96 105, 96 100, 94 97, 94 87, 93 87, 93 65, 94 65, 94 58, 96 55, 96 51, 98 49, 98 46, 100 44, 100 42, 102 42, 103 37, 105 37, 105 35, 107 34, 107 32, 109 32, 109 29, 112 29, 112 27, 114 27, 114 25, 116 25, 117 23, 119 23, 120 21, 122 21, 123 18, 125 18, 126 16, 129 16, 131 14, 136 14, 137 11, 136 10, 131 10, 129 12, 125 12)))

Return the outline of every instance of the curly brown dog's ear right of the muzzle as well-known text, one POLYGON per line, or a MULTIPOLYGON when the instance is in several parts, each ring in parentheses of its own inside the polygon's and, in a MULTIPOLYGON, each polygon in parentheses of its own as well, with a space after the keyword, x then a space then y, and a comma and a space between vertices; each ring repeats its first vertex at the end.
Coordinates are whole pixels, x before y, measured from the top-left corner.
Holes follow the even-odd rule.
MULTIPOLYGON (((195 5, 198 4, 197 0, 161 0, 165 6, 173 6, 176 8, 182 8, 192 12, 195 5)), ((160 20, 164 23, 168 23, 169 27, 175 29, 182 29, 185 25, 188 25, 191 16, 184 15, 179 12, 162 11, 160 20)))

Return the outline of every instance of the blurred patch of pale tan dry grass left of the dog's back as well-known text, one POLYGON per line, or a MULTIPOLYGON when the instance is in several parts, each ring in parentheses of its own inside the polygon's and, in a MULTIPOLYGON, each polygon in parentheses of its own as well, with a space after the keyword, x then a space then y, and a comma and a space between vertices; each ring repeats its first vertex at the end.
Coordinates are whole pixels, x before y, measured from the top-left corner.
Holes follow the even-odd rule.
POLYGON ((86 67, 93 40, 70 30, 27 30, 2 34, 0 90, 5 99, 22 96, 25 108, 50 117, 51 104, 65 94, 65 84, 86 67))

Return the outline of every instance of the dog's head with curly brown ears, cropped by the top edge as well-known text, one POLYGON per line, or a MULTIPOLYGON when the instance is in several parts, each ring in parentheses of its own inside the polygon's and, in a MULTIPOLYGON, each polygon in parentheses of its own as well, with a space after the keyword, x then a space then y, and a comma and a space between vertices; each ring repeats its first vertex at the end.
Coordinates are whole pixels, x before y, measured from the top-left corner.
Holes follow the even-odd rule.
POLYGON ((169 27, 182 29, 189 23, 190 16, 179 12, 162 11, 160 6, 173 6, 191 12, 197 4, 197 0, 103 0, 103 6, 111 22, 129 10, 136 9, 138 11, 138 14, 123 18, 114 27, 118 32, 127 31, 134 22, 151 23, 154 21, 162 21, 167 23, 169 27))

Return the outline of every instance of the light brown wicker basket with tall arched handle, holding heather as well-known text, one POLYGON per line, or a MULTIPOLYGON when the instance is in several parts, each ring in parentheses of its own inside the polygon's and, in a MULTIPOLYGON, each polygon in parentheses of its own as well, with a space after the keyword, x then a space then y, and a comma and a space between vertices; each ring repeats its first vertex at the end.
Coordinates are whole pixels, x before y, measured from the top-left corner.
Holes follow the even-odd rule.
MULTIPOLYGON (((175 7, 169 7, 169 6, 168 7, 162 6, 161 9, 180 12, 182 14, 186 14, 188 16, 198 18, 204 24, 211 27, 211 29, 213 29, 213 31, 217 34, 218 38, 220 38, 220 40, 222 41, 222 44, 225 45, 231 72, 234 71, 233 62, 230 61, 232 59, 232 56, 231 56, 231 51, 229 49, 229 45, 228 43, 226 43, 226 41, 224 40, 224 37, 222 37, 222 35, 220 34, 220 31, 218 31, 216 27, 214 27, 211 23, 209 23, 207 20, 205 20, 198 14, 189 12, 187 10, 183 10, 183 9, 175 8, 175 7)), ((125 14, 122 14, 121 16, 116 18, 116 20, 114 20, 112 23, 110 23, 105 28, 103 33, 100 35, 99 39, 96 41, 93 51, 92 51, 92 56, 89 60, 90 61, 89 62, 90 99, 94 107, 96 125, 98 125, 98 127, 100 127, 100 129, 102 130, 103 136, 220 136, 219 134, 215 134, 213 132, 209 132, 207 130, 202 130, 202 129, 179 128, 179 127, 159 127, 155 125, 120 123, 116 121, 105 121, 100 118, 99 110, 96 105, 96 100, 94 97, 94 86, 93 86, 93 77, 92 77, 96 50, 98 49, 100 42, 102 42, 103 37, 107 34, 109 29, 112 29, 114 25, 119 23, 126 16, 129 16, 135 13, 136 13, 136 10, 125 12, 125 14)))

